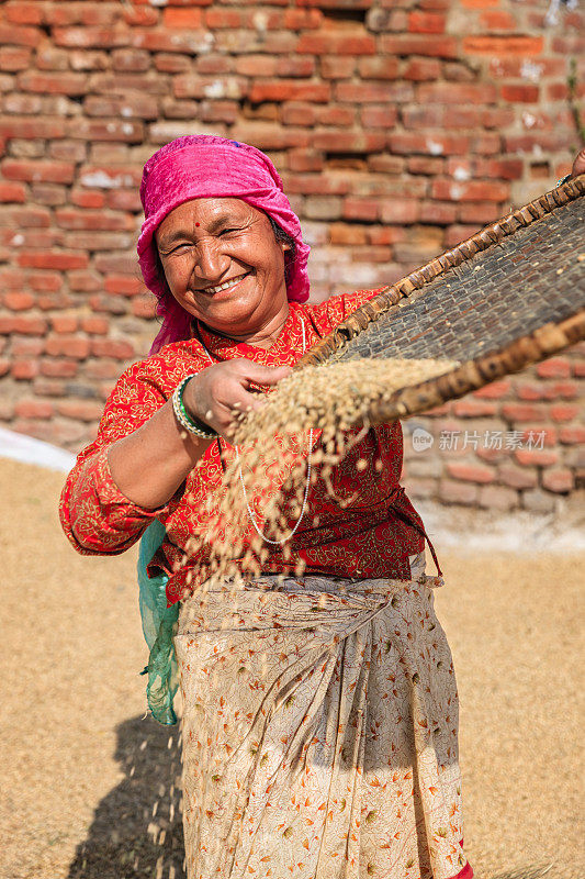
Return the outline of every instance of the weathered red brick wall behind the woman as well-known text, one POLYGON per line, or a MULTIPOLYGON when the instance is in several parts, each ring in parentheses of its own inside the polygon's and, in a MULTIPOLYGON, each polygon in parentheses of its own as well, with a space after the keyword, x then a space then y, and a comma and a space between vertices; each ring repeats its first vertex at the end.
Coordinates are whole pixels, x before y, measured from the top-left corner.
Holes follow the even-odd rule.
MULTIPOLYGON (((75 450, 145 354, 137 187, 175 136, 271 155, 314 247, 315 299, 392 282, 545 191, 581 146, 570 5, 2 3, 0 423, 75 450)), ((584 368, 575 348, 405 423, 413 494, 549 509, 584 478, 584 368), (416 427, 432 447, 414 449, 416 427)))

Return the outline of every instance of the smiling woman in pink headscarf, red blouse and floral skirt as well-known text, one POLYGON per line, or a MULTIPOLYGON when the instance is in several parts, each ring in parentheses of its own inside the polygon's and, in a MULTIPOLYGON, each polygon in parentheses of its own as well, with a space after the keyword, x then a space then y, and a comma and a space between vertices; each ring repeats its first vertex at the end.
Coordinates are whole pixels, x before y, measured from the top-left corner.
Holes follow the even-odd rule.
MULTIPOLYGON (((162 327, 119 380, 60 513, 85 554, 165 526, 149 572, 180 602, 188 876, 469 879, 457 687, 423 523, 398 485, 400 423, 370 430, 335 468, 335 499, 308 486, 307 513, 268 542, 237 609, 227 591, 201 601, 204 542, 184 560, 235 454, 235 419, 261 404, 255 387, 378 291, 303 304, 308 247, 254 147, 181 137, 146 164, 140 196, 140 268, 162 327)), ((251 541, 261 510, 249 520, 251 541)))

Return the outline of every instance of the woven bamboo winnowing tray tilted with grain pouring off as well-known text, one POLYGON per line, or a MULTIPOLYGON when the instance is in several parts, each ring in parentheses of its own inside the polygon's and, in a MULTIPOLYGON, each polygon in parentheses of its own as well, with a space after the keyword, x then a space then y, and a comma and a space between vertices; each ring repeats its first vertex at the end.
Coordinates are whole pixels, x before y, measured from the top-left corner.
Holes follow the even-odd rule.
POLYGON ((363 357, 460 361, 378 403, 370 418, 383 422, 462 397, 585 338, 584 193, 581 175, 485 226, 369 300, 296 368, 363 357))

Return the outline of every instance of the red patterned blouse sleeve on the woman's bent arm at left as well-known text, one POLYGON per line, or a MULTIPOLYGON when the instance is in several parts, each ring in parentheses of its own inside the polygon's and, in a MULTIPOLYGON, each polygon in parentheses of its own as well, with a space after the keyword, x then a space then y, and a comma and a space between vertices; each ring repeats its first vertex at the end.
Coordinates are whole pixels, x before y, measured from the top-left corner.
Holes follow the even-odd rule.
POLYGON ((149 510, 128 500, 110 471, 108 452, 123 436, 136 431, 167 400, 160 382, 135 364, 112 391, 98 436, 77 457, 59 503, 66 536, 81 555, 123 553, 132 546, 167 507, 149 510))

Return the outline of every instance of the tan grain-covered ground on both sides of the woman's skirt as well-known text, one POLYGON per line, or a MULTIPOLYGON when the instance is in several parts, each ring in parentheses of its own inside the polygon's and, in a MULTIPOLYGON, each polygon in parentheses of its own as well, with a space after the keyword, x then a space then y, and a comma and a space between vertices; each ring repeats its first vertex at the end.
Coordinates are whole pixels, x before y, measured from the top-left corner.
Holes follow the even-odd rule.
MULTIPOLYGON (((143 719, 135 553, 74 553, 61 482, 0 459, 0 876, 181 879, 178 734, 143 719)), ((476 879, 583 879, 585 555, 436 548, 476 879)))

